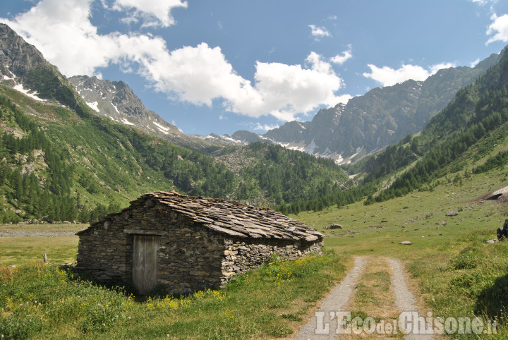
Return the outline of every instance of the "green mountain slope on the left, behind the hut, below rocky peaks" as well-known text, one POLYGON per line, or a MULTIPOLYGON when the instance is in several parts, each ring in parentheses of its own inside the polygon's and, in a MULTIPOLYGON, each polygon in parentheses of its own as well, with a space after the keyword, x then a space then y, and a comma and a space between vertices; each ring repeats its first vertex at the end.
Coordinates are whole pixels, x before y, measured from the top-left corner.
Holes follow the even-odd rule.
POLYGON ((87 111, 83 118, 4 86, 0 110, 1 222, 87 221, 152 190, 226 198, 236 183, 207 154, 87 111))

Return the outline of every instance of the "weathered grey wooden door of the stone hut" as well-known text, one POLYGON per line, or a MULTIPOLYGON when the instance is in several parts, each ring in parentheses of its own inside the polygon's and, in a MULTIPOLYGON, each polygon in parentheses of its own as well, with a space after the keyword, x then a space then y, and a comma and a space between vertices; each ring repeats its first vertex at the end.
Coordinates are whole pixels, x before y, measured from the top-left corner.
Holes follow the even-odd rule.
POLYGON ((143 295, 157 286, 159 237, 134 235, 133 284, 138 293, 143 295))

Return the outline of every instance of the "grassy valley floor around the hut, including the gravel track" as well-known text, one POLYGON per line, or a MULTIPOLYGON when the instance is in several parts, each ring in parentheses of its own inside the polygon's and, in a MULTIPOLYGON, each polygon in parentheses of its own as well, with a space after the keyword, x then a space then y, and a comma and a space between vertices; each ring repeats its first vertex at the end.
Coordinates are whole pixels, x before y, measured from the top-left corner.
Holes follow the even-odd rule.
MULTIPOLYGON (((431 191, 416 191, 388 202, 368 206, 358 202, 341 209, 330 207, 322 212, 301 212, 295 216, 325 233, 325 248, 336 254, 322 259, 325 262, 317 267, 309 262, 310 267, 317 268, 310 271, 315 273, 310 276, 306 276, 309 272, 305 272, 307 274, 303 277, 280 279, 281 275, 287 275, 299 265, 272 264, 246 277, 239 277, 217 296, 205 293, 183 300, 165 300, 162 297, 131 300, 104 289, 81 286, 61 274, 52 274, 53 269, 50 268, 36 267, 32 274, 32 269, 26 269, 23 275, 28 276, 23 279, 25 269, 16 274, 16 271, 8 269, 10 267, 2 267, 4 272, 0 273, 3 275, 0 281, 4 280, 6 289, 10 289, 13 295, 7 298, 0 296, 10 306, 6 307, 4 301, 0 312, 4 316, 18 315, 20 322, 26 322, 23 315, 26 315, 25 318, 38 315, 37 305, 23 296, 30 296, 32 300, 39 296, 37 301, 40 298, 56 299, 55 303, 74 310, 67 319, 44 321, 52 323, 53 328, 46 329, 43 323, 41 330, 32 334, 35 337, 162 338, 169 334, 170 339, 207 339, 214 336, 224 339, 315 339, 316 329, 325 332, 327 323, 329 329, 325 335, 335 331, 337 312, 351 312, 351 332, 358 329, 359 320, 363 322, 369 317, 376 324, 384 321, 383 331, 387 332, 390 327, 387 324, 397 320, 401 311, 418 310, 421 316, 428 317, 431 312, 432 317, 445 320, 462 317, 471 321, 480 317, 485 325, 484 332, 492 332, 492 326, 497 331, 497 334, 481 334, 481 338, 506 339, 508 327, 504 310, 508 301, 504 295, 508 286, 508 242, 492 244, 486 241, 496 238, 495 231, 502 226, 508 211, 506 203, 483 201, 481 198, 506 186, 507 176, 504 171, 489 176, 472 176, 464 178, 462 185, 453 183, 453 176, 456 174, 442 179, 442 183, 431 191), (456 214, 447 216, 452 211, 456 214), (330 230, 327 228, 330 224, 341 224, 342 229, 330 230), (411 245, 401 245, 401 241, 411 241, 411 245), (19 278, 25 286, 8 286, 16 281, 16 275, 21 275, 19 278), (37 275, 42 276, 35 279, 37 275), (49 283, 48 288, 40 288, 48 277, 60 280, 56 286, 68 287, 66 297, 59 297, 49 283), (35 280, 31 283, 37 286, 35 291, 26 288, 30 280, 35 280), (41 280, 40 283, 37 280, 41 280), (333 289, 335 286, 338 288, 333 289), (82 300, 83 296, 90 301, 82 300), (116 305, 101 313, 112 315, 113 319, 119 315, 123 319, 111 321, 110 318, 104 322, 106 328, 97 324, 94 326, 96 330, 84 332, 87 318, 97 317, 96 308, 91 306, 93 303, 102 305, 97 299, 111 299, 109 304, 116 305), (13 305, 14 300, 28 302, 29 305, 23 307, 26 311, 13 305), (80 310, 78 302, 87 309, 80 310), (329 312, 335 312, 335 315, 329 312), (165 315, 165 319, 160 319, 160 315, 165 315), (136 321, 131 321, 129 316, 135 317, 136 321), (493 321, 497 324, 492 324, 493 321), (81 328, 69 327, 73 324, 81 324, 81 328)), ((75 228, 81 226, 25 225, 23 230, 17 226, 1 226, 0 232, 9 237, 0 237, 0 251, 6 254, 1 257, 0 265, 30 266, 34 261, 41 262, 42 253, 47 253, 50 262, 72 262, 78 238, 66 233, 74 232, 75 228), (25 233, 30 237, 12 237, 25 233), (52 233, 56 236, 49 237, 52 233)), ((48 301, 48 312, 52 310, 51 303, 48 301)), ((9 330, 8 327, 14 327, 14 324, 4 324, 4 332, 9 330)), ((453 324, 449 327, 454 330, 453 324)), ((450 335, 478 339, 471 327, 472 323, 466 324, 465 332, 471 334, 460 334, 456 329, 450 335)), ((377 331, 369 335, 370 330, 366 329, 367 332, 362 326, 361 337, 402 336, 401 333, 378 334, 377 331)), ((346 335, 346 338, 348 336, 353 335, 346 335)))

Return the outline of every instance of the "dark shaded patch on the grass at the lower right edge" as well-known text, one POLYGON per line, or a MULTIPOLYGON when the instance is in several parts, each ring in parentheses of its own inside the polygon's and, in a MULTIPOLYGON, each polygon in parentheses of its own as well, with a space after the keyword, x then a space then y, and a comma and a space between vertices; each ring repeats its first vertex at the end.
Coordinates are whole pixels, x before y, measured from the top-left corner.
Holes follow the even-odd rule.
POLYGON ((480 291, 476 299, 475 314, 499 319, 506 315, 507 307, 508 274, 497 278, 492 286, 480 291))

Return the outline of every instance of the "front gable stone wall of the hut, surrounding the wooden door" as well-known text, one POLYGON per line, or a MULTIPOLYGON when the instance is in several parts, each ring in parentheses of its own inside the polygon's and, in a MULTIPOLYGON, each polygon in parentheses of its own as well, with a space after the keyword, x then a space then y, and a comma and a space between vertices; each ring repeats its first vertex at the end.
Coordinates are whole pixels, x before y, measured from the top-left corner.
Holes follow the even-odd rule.
POLYGON ((159 236, 158 283, 170 293, 221 286, 224 237, 160 204, 93 224, 80 234, 77 266, 99 281, 109 276, 130 283, 134 235, 159 236))

